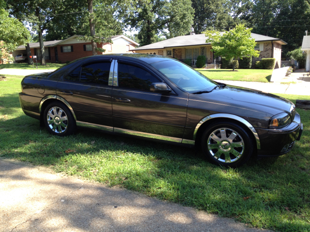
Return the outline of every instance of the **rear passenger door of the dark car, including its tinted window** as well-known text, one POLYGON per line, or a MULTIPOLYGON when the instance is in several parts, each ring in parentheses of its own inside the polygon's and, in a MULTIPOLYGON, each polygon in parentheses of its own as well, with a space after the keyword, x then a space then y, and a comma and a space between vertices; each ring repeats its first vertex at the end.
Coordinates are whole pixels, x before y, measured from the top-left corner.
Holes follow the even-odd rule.
POLYGON ((108 131, 113 131, 110 68, 110 59, 90 61, 59 81, 57 95, 69 102, 77 117, 77 124, 103 125, 108 131))

